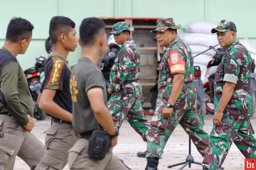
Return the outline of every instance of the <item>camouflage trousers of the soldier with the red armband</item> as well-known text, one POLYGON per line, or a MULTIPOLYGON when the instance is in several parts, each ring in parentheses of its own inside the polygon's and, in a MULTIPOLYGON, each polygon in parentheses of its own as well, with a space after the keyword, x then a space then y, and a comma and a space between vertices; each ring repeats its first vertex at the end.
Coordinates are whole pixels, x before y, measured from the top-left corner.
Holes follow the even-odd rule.
POLYGON ((155 112, 148 132, 147 158, 161 159, 164 146, 178 123, 191 137, 199 153, 202 156, 205 155, 209 135, 203 130, 202 116, 196 109, 173 109, 168 119, 164 119, 161 112, 155 112))

